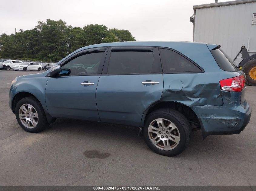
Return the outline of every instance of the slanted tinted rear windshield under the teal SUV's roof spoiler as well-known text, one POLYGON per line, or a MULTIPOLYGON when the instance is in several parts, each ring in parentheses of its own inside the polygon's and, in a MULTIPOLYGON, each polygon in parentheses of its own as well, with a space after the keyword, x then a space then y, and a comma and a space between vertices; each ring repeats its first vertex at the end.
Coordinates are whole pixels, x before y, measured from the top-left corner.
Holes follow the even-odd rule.
POLYGON ((238 71, 238 68, 235 67, 231 58, 229 58, 228 55, 226 55, 226 53, 224 53, 221 49, 211 50, 211 54, 222 70, 230 72, 238 71))

